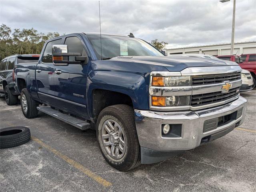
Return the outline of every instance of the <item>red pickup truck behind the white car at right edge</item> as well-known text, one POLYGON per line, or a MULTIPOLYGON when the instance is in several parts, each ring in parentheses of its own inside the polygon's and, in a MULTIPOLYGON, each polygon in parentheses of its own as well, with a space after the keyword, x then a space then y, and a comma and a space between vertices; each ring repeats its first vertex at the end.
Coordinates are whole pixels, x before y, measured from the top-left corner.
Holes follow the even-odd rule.
POLYGON ((235 55, 221 55, 216 56, 223 60, 229 60, 237 62, 242 69, 246 69, 250 71, 252 74, 254 87, 256 84, 256 54, 242 54, 240 57, 236 57, 235 55))

